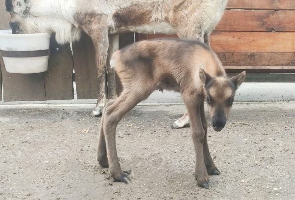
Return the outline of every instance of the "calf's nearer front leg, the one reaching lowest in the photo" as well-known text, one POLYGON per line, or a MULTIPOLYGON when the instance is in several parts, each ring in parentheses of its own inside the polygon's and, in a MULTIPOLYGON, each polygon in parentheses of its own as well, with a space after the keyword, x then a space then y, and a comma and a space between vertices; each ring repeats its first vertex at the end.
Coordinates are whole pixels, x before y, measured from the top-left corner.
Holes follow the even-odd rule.
POLYGON ((205 131, 202 125, 201 120, 201 102, 197 100, 187 100, 185 98, 184 103, 187 107, 190 126, 192 131, 192 138, 195 146, 196 153, 196 168, 195 168, 195 177, 198 182, 198 185, 203 188, 209 187, 209 176, 205 167, 204 162, 204 152, 203 152, 203 143, 205 138, 205 131))

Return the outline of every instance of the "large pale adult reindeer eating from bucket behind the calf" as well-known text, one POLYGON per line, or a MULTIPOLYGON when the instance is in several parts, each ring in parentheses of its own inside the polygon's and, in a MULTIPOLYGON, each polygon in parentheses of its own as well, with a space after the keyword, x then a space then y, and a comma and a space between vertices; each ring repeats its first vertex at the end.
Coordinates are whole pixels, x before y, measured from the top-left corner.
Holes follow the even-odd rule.
MULTIPOLYGON (((119 33, 177 34, 209 44, 228 0, 5 0, 13 33, 56 33, 59 44, 75 42, 85 31, 95 49, 99 96, 93 115, 107 102, 105 68, 109 46, 119 33)), ((188 124, 188 115, 174 123, 188 124)))

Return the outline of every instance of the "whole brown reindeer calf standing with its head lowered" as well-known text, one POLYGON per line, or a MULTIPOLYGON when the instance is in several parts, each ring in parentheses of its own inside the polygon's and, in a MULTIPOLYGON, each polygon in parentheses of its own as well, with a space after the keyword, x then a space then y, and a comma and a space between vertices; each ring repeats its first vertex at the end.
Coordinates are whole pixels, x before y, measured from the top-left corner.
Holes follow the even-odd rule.
POLYGON ((220 131, 226 123, 235 91, 245 72, 229 79, 218 57, 204 43, 190 40, 157 39, 141 41, 114 53, 111 59, 123 91, 107 103, 100 127, 97 160, 109 167, 116 181, 128 181, 118 161, 116 127, 120 119, 150 93, 158 90, 180 92, 190 118, 196 153, 198 185, 209 187, 208 174, 219 174, 207 144, 207 99, 211 124, 220 131))

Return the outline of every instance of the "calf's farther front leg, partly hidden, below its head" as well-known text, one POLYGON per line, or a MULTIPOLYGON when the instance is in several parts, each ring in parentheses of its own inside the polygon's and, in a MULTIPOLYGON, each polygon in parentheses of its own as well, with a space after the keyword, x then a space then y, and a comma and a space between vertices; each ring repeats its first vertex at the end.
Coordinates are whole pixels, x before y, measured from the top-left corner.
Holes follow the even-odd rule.
POLYGON ((203 128, 205 131, 204 144, 203 144, 205 166, 206 166, 206 169, 207 169, 207 172, 209 175, 218 175, 218 174, 220 174, 220 172, 216 168, 216 166, 211 158, 208 143, 207 143, 208 125, 207 125, 207 120, 206 120, 206 115, 205 115, 205 110, 204 110, 204 103, 201 105, 201 120, 202 120, 203 128))

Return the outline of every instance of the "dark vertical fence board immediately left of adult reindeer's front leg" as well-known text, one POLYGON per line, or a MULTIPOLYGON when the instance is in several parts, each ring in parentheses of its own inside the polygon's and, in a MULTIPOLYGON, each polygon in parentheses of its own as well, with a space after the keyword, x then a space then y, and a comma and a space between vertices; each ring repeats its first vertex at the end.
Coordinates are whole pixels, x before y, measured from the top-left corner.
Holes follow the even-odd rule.
POLYGON ((97 99, 95 51, 91 38, 84 32, 80 41, 73 44, 73 58, 77 99, 97 99))

